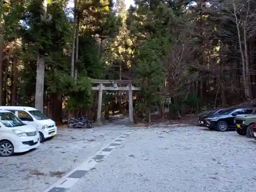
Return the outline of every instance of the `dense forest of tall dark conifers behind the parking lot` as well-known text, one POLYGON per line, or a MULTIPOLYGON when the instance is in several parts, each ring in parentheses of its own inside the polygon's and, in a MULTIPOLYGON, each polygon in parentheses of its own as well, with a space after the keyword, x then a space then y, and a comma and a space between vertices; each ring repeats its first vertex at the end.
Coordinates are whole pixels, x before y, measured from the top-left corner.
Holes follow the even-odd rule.
MULTIPOLYGON (((35 106, 56 122, 64 108, 95 112, 91 78, 132 79, 143 114, 165 100, 182 114, 256 98, 255 1, 72 3, 0 0, 1 105, 35 106)), ((105 111, 127 103, 103 99, 105 111)))

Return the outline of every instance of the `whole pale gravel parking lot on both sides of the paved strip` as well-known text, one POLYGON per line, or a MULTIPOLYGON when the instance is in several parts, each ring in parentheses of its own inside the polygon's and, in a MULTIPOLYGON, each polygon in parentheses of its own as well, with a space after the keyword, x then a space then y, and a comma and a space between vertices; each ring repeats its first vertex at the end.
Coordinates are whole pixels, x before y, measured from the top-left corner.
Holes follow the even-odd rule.
POLYGON ((0 187, 6 192, 42 192, 128 129, 134 131, 65 191, 255 190, 254 139, 173 125, 60 130, 37 150, 0 158, 0 187))

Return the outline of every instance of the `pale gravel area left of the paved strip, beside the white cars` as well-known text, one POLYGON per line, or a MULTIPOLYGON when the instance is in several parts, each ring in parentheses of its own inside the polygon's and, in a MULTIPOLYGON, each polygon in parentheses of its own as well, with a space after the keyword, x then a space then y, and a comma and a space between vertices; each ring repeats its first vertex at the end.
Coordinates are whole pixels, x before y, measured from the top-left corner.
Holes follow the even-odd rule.
POLYGON ((43 191, 125 130, 122 125, 58 130, 31 152, 0 158, 0 191, 43 191))

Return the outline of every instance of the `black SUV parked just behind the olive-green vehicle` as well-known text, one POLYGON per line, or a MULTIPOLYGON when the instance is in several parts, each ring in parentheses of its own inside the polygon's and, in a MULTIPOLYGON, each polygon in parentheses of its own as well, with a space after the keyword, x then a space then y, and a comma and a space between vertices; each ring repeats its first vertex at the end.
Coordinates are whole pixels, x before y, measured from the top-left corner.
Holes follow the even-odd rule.
POLYGON ((245 116, 251 114, 253 109, 241 109, 233 108, 227 109, 223 112, 212 115, 205 118, 206 126, 209 129, 216 129, 218 131, 227 131, 228 129, 236 129, 236 124, 234 124, 234 118, 239 116, 245 116))

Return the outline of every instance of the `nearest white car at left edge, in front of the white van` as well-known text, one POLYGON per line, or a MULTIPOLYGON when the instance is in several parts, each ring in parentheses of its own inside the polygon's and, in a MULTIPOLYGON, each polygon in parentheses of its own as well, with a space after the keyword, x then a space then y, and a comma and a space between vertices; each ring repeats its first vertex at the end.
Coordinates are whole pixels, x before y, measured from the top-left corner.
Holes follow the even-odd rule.
POLYGON ((0 156, 8 157, 38 147, 39 133, 12 112, 0 110, 0 156))

